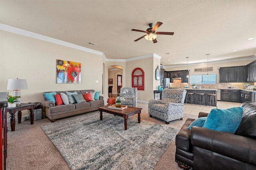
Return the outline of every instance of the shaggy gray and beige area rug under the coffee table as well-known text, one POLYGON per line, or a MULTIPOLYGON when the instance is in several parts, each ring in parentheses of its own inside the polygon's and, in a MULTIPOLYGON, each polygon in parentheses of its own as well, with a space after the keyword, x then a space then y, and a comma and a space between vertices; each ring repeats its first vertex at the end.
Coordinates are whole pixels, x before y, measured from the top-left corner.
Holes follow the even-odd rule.
POLYGON ((154 169, 178 129, 130 117, 86 113, 42 126, 71 170, 154 169))

